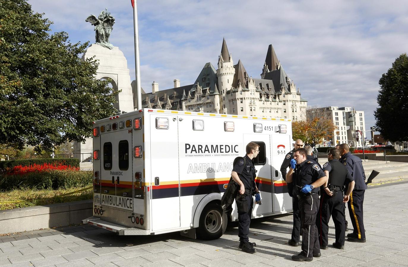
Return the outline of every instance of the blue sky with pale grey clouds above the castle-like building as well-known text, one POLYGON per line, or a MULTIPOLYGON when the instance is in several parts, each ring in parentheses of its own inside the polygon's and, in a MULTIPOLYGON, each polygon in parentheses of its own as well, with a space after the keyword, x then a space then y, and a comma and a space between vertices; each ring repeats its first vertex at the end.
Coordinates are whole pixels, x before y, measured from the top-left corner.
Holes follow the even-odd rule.
MULTIPOLYGON (((66 31, 72 43, 95 42, 85 19, 107 8, 116 21, 110 42, 124 53, 135 79, 130 0, 30 0, 35 12, 66 31)), ((309 106, 364 110, 375 124, 378 80, 407 53, 405 1, 139 0, 140 73, 151 91, 192 84, 206 62, 217 64, 225 37, 234 63, 259 78, 272 44, 286 73, 309 106)))

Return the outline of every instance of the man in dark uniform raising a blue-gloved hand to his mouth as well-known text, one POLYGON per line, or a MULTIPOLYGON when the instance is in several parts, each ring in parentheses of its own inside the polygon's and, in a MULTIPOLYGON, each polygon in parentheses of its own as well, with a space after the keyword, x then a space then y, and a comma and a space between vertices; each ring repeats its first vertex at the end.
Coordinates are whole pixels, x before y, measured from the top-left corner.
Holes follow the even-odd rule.
POLYGON ((293 183, 294 192, 299 199, 302 223, 302 252, 292 256, 295 261, 312 261, 320 257, 320 245, 316 227, 316 214, 319 209, 319 186, 327 182, 327 177, 316 161, 307 160, 307 152, 299 148, 293 153, 286 182, 293 183))

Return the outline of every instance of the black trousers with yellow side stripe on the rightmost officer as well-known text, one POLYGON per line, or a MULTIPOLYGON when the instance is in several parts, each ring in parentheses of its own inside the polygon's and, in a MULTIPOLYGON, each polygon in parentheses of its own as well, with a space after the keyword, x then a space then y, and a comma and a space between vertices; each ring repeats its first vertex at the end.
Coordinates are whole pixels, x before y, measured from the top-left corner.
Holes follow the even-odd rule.
POLYGON ((350 201, 348 201, 348 212, 350 214, 350 221, 353 224, 353 234, 360 239, 366 238, 366 231, 364 230, 363 222, 363 202, 364 192, 366 190, 353 190, 350 194, 350 201))

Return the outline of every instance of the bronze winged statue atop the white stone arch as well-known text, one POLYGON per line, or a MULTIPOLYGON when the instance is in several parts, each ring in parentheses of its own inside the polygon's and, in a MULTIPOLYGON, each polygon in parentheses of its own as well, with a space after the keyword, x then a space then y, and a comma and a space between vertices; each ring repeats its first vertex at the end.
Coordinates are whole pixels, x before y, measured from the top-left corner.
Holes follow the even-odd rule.
POLYGON ((102 10, 98 18, 90 15, 85 21, 91 22, 95 26, 95 42, 103 47, 113 49, 113 45, 109 42, 109 36, 111 35, 115 18, 111 16, 108 9, 102 10))

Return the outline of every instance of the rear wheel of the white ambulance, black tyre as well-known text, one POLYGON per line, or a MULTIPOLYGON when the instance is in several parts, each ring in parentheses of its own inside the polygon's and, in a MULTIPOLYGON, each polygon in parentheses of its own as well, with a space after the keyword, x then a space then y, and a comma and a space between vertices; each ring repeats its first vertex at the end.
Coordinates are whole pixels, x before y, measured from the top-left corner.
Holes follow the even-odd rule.
POLYGON ((197 236, 203 240, 214 240, 224 234, 227 227, 227 216, 220 204, 208 203, 200 215, 197 236))

